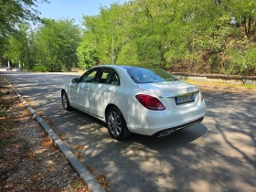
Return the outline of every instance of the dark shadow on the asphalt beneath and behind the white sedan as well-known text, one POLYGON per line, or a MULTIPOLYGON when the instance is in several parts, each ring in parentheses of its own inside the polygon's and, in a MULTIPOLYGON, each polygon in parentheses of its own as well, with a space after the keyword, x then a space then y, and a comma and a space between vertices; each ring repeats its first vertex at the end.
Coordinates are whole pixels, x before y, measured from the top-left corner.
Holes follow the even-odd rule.
MULTIPOLYGON (((110 139, 112 139, 110 134, 107 133, 106 123, 101 122, 97 118, 91 117, 91 115, 89 114, 80 112, 78 110, 67 112, 63 118, 63 121, 65 122, 67 121, 67 123, 71 123, 71 120, 73 120, 73 122, 84 121, 83 123, 84 125, 93 123, 94 131, 95 129, 104 129, 104 133, 106 133, 104 137, 109 137, 110 139), (76 119, 73 119, 74 117, 76 117, 76 119)), ((196 141, 207 132, 208 132, 208 128, 203 123, 197 123, 185 129, 181 129, 174 133, 166 135, 164 137, 147 136, 147 135, 133 133, 130 138, 122 142, 119 142, 119 144, 122 145, 122 144, 137 143, 137 144, 144 144, 147 147, 150 147, 152 149, 165 150, 168 148, 176 148, 176 147, 189 144, 193 141, 196 141)))

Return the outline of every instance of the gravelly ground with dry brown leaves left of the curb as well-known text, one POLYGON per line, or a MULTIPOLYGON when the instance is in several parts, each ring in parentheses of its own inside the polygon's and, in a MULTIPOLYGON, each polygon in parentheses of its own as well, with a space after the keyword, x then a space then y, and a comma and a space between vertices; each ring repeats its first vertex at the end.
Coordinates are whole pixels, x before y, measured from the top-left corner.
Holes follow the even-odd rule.
POLYGON ((0 191, 90 191, 1 75, 0 191))

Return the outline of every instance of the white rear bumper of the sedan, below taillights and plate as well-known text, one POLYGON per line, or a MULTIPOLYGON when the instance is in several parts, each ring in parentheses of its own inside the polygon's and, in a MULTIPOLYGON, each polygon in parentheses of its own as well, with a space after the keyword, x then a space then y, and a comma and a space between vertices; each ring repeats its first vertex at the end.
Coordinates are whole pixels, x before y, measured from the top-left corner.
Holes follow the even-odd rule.
POLYGON ((123 112, 128 129, 132 133, 144 135, 165 135, 178 129, 202 122, 206 104, 200 101, 197 106, 181 111, 140 111, 123 112))

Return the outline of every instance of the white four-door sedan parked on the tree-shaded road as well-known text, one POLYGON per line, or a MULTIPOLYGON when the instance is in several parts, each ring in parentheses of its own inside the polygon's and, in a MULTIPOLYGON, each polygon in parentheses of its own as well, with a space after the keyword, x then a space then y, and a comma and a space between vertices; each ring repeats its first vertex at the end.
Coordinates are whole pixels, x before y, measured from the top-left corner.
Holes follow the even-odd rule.
POLYGON ((103 65, 87 70, 61 91, 62 105, 107 123, 123 140, 131 133, 165 136, 203 121, 206 104, 196 85, 163 69, 103 65))

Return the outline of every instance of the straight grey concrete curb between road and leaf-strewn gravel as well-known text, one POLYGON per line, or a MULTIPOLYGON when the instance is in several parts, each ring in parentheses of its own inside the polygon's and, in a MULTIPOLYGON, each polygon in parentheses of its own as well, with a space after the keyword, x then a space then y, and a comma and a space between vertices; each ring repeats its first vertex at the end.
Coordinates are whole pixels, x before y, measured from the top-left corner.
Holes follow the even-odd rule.
MULTIPOLYGON (((3 74, 2 74, 3 75, 3 74)), ((3 75, 3 78, 5 79, 5 76, 3 75)), ((6 79, 5 79, 6 80, 6 79)), ((18 91, 12 86, 12 84, 6 80, 6 82, 9 83, 12 90, 16 92, 16 95, 19 97, 20 101, 24 103, 24 105, 27 107, 29 112, 33 115, 33 117, 36 118, 37 122, 43 127, 46 133, 48 133, 48 136, 53 141, 54 144, 56 144, 59 147, 59 150, 62 152, 63 155, 66 156, 67 160, 69 161, 69 164, 73 167, 73 169, 80 175, 81 179, 88 185, 88 187, 91 189, 92 192, 105 192, 105 190, 101 187, 101 185, 95 180, 93 176, 91 176, 91 173, 80 163, 80 160, 73 155, 69 147, 62 142, 62 140, 59 138, 59 136, 54 133, 54 131, 50 128, 48 123, 46 123, 38 114, 37 112, 23 99, 23 97, 19 94, 18 91)))

